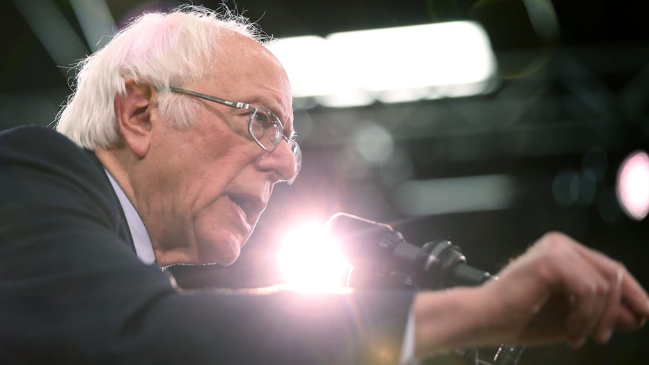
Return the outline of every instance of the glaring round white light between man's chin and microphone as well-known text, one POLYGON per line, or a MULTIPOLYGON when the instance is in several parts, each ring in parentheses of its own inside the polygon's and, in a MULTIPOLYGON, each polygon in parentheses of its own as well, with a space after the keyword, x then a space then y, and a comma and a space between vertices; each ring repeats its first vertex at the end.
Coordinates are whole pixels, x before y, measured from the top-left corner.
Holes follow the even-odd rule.
POLYGON ((309 223, 286 235, 279 251, 286 284, 320 292, 345 286, 350 265, 324 224, 309 223))

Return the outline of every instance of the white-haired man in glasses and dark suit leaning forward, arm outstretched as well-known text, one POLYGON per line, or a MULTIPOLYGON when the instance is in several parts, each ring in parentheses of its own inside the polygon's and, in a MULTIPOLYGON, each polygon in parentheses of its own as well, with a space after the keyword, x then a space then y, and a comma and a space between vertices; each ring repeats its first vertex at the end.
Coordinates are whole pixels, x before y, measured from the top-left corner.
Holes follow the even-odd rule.
POLYGON ((301 163, 286 73, 233 15, 140 17, 81 63, 57 129, 0 136, 2 363, 389 364, 649 316, 622 265, 560 233, 444 293, 175 288, 157 266, 233 263, 301 163))

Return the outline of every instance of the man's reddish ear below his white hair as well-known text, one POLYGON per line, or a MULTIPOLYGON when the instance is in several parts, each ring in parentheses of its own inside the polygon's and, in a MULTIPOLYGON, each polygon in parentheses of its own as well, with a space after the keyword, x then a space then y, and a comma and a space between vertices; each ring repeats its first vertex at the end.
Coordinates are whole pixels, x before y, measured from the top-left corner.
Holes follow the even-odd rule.
POLYGON ((134 79, 125 80, 126 93, 115 94, 114 109, 125 145, 139 158, 146 156, 153 134, 151 120, 155 88, 134 79))

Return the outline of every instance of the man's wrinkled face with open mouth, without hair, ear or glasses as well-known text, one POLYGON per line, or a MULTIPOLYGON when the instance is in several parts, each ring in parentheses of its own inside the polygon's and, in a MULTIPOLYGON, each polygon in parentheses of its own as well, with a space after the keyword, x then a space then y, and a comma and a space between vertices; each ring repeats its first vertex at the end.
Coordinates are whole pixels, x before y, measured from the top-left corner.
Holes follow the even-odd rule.
MULTIPOLYGON (((224 49, 213 77, 179 87, 267 107, 290 136, 290 85, 281 65, 264 47, 241 36, 224 49)), ((267 153, 250 137, 249 111, 201 102, 195 125, 188 129, 153 124, 145 157, 148 173, 134 184, 136 207, 159 265, 233 263, 274 183, 295 173, 286 141, 267 153)))

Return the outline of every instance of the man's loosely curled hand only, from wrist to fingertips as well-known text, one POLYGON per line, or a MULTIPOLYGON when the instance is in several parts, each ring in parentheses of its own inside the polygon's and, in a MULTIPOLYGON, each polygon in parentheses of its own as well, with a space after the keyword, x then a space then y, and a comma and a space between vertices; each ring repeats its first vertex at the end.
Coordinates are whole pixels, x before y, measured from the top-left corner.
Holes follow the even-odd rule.
POLYGON ((561 233, 544 235, 483 290, 499 302, 503 342, 604 343, 649 317, 649 297, 624 265, 561 233))

